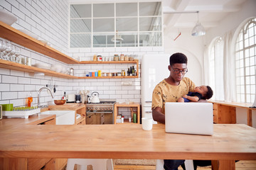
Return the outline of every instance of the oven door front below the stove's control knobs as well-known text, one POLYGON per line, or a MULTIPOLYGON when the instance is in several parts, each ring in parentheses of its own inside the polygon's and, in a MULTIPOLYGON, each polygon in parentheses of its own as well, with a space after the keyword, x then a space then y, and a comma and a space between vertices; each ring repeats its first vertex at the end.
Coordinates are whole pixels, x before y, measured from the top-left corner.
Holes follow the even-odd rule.
POLYGON ((114 124, 113 111, 86 111, 87 125, 114 124))

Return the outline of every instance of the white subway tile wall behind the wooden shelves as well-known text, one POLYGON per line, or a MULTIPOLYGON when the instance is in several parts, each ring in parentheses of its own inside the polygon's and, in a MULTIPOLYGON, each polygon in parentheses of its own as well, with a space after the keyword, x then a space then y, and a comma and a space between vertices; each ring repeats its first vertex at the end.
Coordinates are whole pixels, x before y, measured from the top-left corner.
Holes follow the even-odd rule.
MULTIPOLYGON (((141 61, 146 53, 162 53, 164 47, 107 47, 107 48, 68 48, 68 0, 46 1, 8 1, 1 0, 0 8, 4 8, 18 17, 18 21, 12 25, 16 29, 26 29, 35 33, 41 40, 50 42, 53 48, 65 55, 74 57, 80 61, 91 61, 93 55, 102 55, 112 58, 114 55, 137 55, 141 61)), ((3 40, 1 38, 1 40, 3 40)), ((13 43, 13 42, 11 42, 13 43)), ((63 79, 58 77, 35 77, 28 72, 19 72, 11 69, 0 68, 0 104, 14 103, 14 106, 26 106, 26 98, 33 96, 33 105, 37 105, 38 90, 46 84, 57 85, 55 98, 66 94, 75 94, 78 90, 97 91, 100 98, 116 99, 117 102, 127 100, 140 102, 141 84, 140 69, 136 64, 65 64, 51 57, 42 55, 21 45, 21 57, 31 57, 32 64, 60 64, 67 69, 73 67, 75 76, 85 77, 89 72, 121 72, 127 73, 127 68, 134 66, 138 69, 139 78, 132 79, 63 79), (122 85, 122 82, 132 82, 131 86, 122 85)), ((41 104, 53 104, 53 98, 43 90, 40 95, 41 104)), ((128 108, 120 108, 119 113, 130 115, 128 108)))

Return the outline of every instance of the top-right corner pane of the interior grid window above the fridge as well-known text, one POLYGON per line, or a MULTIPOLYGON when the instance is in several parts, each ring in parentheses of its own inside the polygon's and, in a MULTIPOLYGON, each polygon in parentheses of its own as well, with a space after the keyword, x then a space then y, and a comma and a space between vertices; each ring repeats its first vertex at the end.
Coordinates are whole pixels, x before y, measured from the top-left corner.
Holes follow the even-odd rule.
POLYGON ((139 16, 161 16, 161 2, 140 2, 139 16))

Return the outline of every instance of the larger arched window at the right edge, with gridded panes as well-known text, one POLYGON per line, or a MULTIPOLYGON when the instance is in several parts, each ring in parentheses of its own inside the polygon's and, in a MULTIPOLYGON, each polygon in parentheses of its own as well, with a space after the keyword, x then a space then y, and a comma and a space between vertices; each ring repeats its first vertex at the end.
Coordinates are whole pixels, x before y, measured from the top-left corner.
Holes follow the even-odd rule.
POLYGON ((250 19, 240 30, 235 42, 235 79, 237 101, 255 100, 256 18, 250 19))

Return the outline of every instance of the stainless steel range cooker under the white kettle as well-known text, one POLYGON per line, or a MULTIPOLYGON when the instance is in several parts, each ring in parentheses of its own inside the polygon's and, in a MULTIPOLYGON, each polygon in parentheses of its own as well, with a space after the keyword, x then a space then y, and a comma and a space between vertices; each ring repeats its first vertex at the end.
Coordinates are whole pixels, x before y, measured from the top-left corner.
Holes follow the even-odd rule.
POLYGON ((116 102, 101 101, 100 103, 86 103, 86 124, 114 124, 114 103, 116 102))

